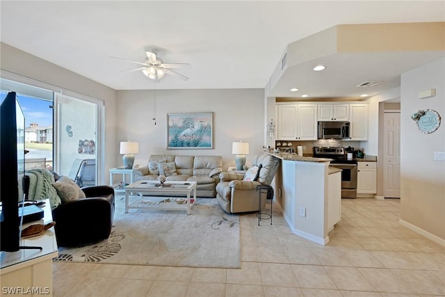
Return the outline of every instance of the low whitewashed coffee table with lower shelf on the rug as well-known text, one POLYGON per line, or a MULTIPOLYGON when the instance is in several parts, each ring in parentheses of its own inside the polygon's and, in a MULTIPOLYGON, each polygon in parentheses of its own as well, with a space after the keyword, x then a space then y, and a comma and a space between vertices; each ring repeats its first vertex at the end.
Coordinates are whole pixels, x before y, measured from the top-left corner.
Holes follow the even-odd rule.
POLYGON ((125 187, 125 214, 129 209, 186 210, 191 214, 191 207, 196 202, 196 186, 196 182, 165 182, 163 186, 149 180, 134 182, 125 187), (184 197, 170 197, 165 193, 180 193, 184 197), (130 196, 135 198, 131 204, 130 196))

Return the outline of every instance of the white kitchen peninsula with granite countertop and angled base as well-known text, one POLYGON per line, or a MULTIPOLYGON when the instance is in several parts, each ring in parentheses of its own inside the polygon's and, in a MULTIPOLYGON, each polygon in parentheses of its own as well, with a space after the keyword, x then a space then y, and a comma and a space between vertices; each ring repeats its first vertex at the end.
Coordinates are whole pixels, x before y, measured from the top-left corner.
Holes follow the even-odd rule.
POLYGON ((341 170, 331 159, 274 154, 282 159, 275 175, 275 200, 294 234, 325 245, 341 214, 341 170))

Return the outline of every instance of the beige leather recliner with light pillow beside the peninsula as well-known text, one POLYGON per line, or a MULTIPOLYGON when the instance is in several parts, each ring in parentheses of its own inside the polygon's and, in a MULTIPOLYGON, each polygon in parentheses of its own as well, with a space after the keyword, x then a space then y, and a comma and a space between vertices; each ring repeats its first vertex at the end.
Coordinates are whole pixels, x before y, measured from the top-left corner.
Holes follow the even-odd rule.
MULTIPOLYGON (((252 166, 259 166, 259 175, 256 181, 243 180, 244 175, 234 172, 221 172, 220 182, 216 185, 216 200, 220 207, 228 213, 247 211, 258 211, 259 192, 257 186, 260 184, 270 185, 280 159, 268 154, 253 156, 252 166)), ((261 198, 261 208, 266 204, 266 194, 261 198)))

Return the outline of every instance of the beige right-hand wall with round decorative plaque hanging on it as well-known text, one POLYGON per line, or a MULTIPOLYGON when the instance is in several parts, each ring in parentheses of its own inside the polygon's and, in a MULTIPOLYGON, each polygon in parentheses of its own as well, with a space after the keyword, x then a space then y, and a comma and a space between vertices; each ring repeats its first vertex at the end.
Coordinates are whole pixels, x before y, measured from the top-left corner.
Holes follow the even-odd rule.
POLYGON ((445 162, 434 152, 445 151, 445 58, 411 70, 401 77, 401 220, 445 240, 445 162), (418 99, 422 90, 436 89, 435 97, 418 99), (421 133, 412 113, 434 109, 442 125, 421 133))

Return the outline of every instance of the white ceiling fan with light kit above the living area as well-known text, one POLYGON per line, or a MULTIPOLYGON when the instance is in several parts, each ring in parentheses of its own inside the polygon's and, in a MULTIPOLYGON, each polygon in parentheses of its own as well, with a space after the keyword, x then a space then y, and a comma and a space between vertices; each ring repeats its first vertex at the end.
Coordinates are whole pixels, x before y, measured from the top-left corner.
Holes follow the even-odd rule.
POLYGON ((170 74, 173 77, 178 77, 179 79, 182 79, 184 81, 188 80, 188 77, 172 70, 175 68, 187 67, 188 63, 163 63, 163 61, 156 56, 158 54, 157 49, 145 50, 145 54, 147 55, 145 62, 131 61, 113 56, 111 58, 118 58, 123 61, 142 65, 143 67, 138 67, 130 71, 141 70, 146 77, 148 77, 149 79, 153 79, 154 81, 160 81, 160 79, 162 79, 165 74, 170 74))

